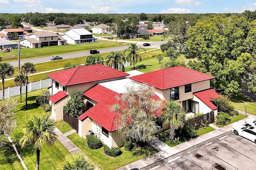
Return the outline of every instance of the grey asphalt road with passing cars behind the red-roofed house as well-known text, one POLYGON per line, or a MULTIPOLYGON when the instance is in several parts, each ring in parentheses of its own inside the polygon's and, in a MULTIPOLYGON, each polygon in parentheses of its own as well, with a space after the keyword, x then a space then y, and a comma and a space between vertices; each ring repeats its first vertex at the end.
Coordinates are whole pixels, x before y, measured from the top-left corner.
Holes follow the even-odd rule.
MULTIPOLYGON (((115 41, 115 40, 112 40, 112 41, 115 41)), ((144 42, 134 42, 134 43, 137 43, 138 47, 144 47, 143 46, 144 42)), ((165 43, 165 42, 149 42, 149 43, 150 43, 150 46, 147 46, 147 47, 159 48, 160 44, 165 43)), ((129 42, 126 42, 126 44, 127 44, 126 46, 99 49, 98 51, 100 51, 100 53, 109 53, 109 52, 112 52, 112 51, 122 51, 122 50, 125 50, 129 47, 128 46, 129 42)), ((89 51, 84 51, 84 52, 79 52, 79 53, 61 54, 59 56, 62 57, 63 59, 70 59, 70 58, 82 57, 82 56, 87 56, 87 55, 91 55, 89 53, 89 51)), ((52 60, 50 60, 50 56, 34 58, 34 59, 20 60, 20 65, 22 65, 23 63, 26 63, 26 62, 32 62, 34 64, 37 64, 37 63, 44 63, 44 62, 48 62, 48 61, 52 61, 52 60)), ((12 64, 14 67, 18 67, 18 61, 12 61, 12 62, 10 62, 10 64, 12 64)))

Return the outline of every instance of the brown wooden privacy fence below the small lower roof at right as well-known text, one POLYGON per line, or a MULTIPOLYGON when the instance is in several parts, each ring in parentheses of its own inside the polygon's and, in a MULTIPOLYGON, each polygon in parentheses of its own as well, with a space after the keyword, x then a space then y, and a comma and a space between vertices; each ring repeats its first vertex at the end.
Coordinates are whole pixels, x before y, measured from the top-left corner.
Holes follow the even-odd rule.
POLYGON ((188 119, 186 124, 190 126, 190 128, 194 128, 195 130, 198 130, 200 127, 204 127, 204 125, 209 125, 211 123, 214 123, 214 121, 215 121, 214 111, 211 111, 204 115, 200 115, 198 117, 193 117, 191 119, 188 119))

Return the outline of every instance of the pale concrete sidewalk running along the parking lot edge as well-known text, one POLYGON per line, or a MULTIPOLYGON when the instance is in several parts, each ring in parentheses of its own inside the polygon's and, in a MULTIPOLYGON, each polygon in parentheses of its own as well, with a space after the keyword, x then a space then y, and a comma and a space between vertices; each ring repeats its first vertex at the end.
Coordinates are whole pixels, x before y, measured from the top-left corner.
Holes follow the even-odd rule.
MULTIPOLYGON (((245 115, 245 112, 242 111, 238 111, 240 114, 245 115)), ((195 146, 197 144, 200 144, 206 140, 209 140, 211 138, 214 138, 220 134, 224 134, 226 132, 228 132, 229 130, 232 129, 232 126, 236 126, 236 125, 244 125, 244 121, 246 119, 256 119, 256 116, 254 115, 247 115, 248 117, 245 119, 242 119, 240 121, 231 123, 229 125, 226 125, 222 128, 216 128, 215 130, 208 132, 206 134, 203 134, 197 138, 193 138, 189 141, 183 142, 181 144, 178 144, 176 146, 170 147, 167 144, 165 144, 164 142, 162 142, 161 140, 155 138, 154 140, 152 140, 151 142, 149 142, 149 144, 151 146, 153 146, 154 148, 156 148, 157 150, 159 150, 158 153, 153 154, 151 156, 148 156, 146 158, 143 158, 141 160, 137 160, 136 162, 132 162, 131 164, 128 164, 126 166, 123 166, 121 168, 118 168, 118 170, 131 170, 132 168, 145 168, 146 166, 149 166, 151 164, 154 164, 155 162, 158 162, 162 159, 168 158, 169 156, 172 156, 174 154, 177 154, 183 150, 186 150, 192 146, 195 146)), ((211 125, 210 125, 211 126, 211 125)), ((211 126, 211 127, 216 127, 215 125, 211 126)))

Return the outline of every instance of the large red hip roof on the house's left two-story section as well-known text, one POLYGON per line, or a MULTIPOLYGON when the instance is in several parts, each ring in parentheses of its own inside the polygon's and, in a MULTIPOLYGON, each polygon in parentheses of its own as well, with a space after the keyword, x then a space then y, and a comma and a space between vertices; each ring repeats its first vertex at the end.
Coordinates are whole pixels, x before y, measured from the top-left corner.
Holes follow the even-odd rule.
POLYGON ((47 76, 64 86, 69 86, 82 83, 89 83, 93 81, 125 77, 128 75, 130 74, 118 71, 116 69, 112 69, 105 65, 95 64, 79 66, 64 71, 51 73, 47 76))

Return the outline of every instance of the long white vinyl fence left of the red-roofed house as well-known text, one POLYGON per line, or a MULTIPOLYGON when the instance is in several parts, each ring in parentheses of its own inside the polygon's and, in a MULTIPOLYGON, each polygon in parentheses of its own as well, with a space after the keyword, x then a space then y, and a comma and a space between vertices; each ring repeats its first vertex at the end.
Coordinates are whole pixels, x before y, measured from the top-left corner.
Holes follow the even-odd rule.
MULTIPOLYGON (((28 92, 49 87, 51 85, 52 85, 52 79, 40 80, 33 83, 29 83, 28 92)), ((26 93, 26 86, 23 86, 21 88, 21 93, 22 94, 26 93)), ((8 89, 4 89, 4 98, 13 97, 16 95, 20 95, 20 86, 8 87, 8 89)), ((0 100, 2 100, 2 90, 0 90, 0 100)))

